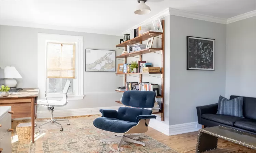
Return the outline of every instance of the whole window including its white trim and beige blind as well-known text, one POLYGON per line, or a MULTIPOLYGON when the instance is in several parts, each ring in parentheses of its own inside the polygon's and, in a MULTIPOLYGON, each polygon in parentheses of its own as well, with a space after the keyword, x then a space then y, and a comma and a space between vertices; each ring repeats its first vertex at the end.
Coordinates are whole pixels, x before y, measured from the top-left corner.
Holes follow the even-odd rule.
POLYGON ((60 92, 67 80, 72 82, 68 99, 83 99, 83 37, 39 33, 39 98, 45 90, 60 92))

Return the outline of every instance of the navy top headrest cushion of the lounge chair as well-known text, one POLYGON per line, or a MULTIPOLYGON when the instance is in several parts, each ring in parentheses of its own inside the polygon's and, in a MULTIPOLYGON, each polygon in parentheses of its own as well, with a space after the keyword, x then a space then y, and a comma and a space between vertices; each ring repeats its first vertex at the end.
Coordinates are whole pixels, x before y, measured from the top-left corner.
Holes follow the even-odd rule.
POLYGON ((153 91, 125 91, 122 103, 126 106, 138 108, 153 108, 156 100, 156 92, 153 91))

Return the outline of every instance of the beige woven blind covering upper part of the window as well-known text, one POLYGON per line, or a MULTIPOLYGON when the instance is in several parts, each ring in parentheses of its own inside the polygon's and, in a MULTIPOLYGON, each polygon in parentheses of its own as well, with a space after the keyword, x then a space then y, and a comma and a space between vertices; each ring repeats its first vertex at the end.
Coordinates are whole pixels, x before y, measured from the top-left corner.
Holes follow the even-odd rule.
POLYGON ((47 43, 47 78, 75 79, 75 44, 47 43))

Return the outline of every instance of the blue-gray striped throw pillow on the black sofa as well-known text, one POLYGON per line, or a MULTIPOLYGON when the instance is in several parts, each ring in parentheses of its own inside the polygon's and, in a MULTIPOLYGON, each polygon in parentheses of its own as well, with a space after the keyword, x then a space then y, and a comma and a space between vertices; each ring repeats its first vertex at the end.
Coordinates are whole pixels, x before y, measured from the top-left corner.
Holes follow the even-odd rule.
POLYGON ((237 97, 235 99, 228 100, 225 97, 219 96, 219 105, 218 105, 217 114, 244 118, 243 97, 237 97))

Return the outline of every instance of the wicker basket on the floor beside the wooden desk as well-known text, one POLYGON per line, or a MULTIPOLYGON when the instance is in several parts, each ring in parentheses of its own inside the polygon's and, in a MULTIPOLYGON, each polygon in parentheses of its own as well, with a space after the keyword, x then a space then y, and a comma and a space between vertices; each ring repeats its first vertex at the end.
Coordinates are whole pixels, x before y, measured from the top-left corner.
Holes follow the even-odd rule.
POLYGON ((31 141, 31 122, 19 123, 16 126, 19 143, 30 143, 31 141))

